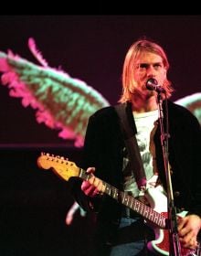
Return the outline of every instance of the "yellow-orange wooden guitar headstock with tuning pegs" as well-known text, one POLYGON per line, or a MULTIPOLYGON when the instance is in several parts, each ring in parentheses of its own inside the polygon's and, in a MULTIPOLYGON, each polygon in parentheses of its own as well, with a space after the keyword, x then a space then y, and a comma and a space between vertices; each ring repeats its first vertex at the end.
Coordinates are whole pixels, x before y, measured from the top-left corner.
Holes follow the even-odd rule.
POLYGON ((53 172, 65 180, 71 176, 79 176, 79 167, 62 156, 41 153, 37 158, 37 165, 42 169, 52 168, 53 172))

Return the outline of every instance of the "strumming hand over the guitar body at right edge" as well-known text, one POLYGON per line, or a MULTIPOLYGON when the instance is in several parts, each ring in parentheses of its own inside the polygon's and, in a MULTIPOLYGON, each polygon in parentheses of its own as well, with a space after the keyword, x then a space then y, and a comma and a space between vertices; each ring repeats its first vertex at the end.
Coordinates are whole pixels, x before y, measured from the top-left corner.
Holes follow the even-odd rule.
POLYGON ((201 219, 199 216, 192 214, 179 220, 178 234, 180 241, 185 248, 196 249, 196 236, 201 228, 201 219))

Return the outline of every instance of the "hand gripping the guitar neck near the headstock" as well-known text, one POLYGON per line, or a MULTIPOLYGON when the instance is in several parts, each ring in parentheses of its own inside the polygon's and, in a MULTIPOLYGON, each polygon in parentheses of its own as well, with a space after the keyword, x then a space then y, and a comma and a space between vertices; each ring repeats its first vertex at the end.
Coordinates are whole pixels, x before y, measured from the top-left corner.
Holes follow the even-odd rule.
POLYGON ((95 172, 94 167, 89 167, 86 171, 87 174, 90 174, 91 177, 88 181, 83 181, 81 184, 81 190, 85 195, 89 197, 100 196, 104 192, 105 186, 103 186, 102 181, 93 175, 95 172))

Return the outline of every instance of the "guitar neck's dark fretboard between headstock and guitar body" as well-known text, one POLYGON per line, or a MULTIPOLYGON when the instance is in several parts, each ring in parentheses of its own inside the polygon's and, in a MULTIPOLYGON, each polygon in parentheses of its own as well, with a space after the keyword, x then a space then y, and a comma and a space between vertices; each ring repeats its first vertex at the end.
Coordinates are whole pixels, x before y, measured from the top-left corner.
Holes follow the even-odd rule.
MULTIPOLYGON (((91 175, 87 174, 85 170, 79 169, 79 177, 84 180, 89 180, 91 175)), ((165 228, 165 218, 162 214, 158 213, 157 211, 153 210, 143 204, 141 201, 135 199, 134 197, 129 196, 126 192, 122 192, 116 187, 111 186, 110 184, 102 181, 104 188, 104 193, 122 205, 131 208, 133 211, 139 213, 145 219, 149 219, 151 222, 156 224, 158 227, 164 229, 165 228)))

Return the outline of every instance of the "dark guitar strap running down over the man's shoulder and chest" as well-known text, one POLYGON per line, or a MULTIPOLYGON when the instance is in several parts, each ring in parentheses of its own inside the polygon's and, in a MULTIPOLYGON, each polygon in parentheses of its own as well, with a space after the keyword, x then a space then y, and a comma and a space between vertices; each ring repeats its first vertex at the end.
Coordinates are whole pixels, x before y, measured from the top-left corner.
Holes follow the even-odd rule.
POLYGON ((133 175, 140 191, 144 191, 146 187, 146 176, 135 136, 137 128, 132 116, 132 104, 131 102, 125 102, 115 105, 114 108, 120 119, 122 136, 132 165, 133 175))

